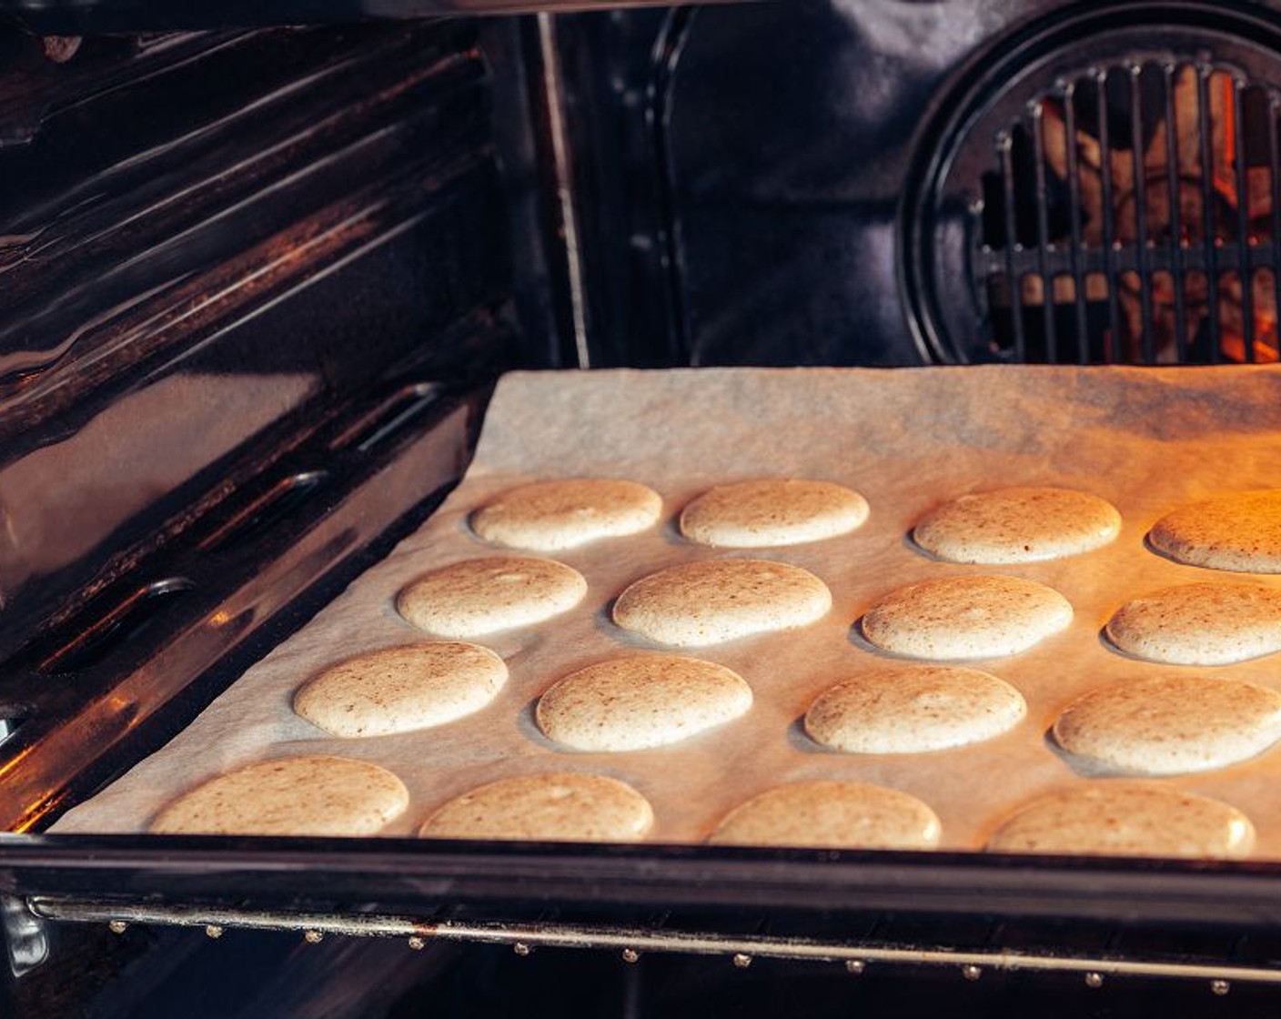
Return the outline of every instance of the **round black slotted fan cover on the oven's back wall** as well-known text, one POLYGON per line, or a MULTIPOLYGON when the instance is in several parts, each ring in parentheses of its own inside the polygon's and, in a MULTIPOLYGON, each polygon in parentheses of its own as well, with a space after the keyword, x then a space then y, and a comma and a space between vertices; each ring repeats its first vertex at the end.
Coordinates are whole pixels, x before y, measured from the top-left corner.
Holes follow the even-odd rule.
POLYGON ((1068 10, 961 69, 917 138, 899 273, 940 360, 1276 360, 1281 26, 1068 10))

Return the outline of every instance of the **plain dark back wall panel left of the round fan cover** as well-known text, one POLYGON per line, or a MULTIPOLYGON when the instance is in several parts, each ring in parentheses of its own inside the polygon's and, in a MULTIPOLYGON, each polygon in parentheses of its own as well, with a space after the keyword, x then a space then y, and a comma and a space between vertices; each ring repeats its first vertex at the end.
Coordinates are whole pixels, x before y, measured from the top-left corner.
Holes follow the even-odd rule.
POLYGON ((557 18, 592 363, 921 363, 895 274, 912 141, 954 67, 1038 6, 557 18))

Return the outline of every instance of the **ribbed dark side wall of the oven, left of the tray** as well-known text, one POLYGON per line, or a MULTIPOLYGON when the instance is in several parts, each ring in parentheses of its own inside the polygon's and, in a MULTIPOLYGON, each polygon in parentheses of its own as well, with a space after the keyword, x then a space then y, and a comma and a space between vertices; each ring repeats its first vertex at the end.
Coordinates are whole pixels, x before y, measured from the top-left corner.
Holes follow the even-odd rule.
POLYGON ((491 82, 465 22, 0 29, 0 655, 352 401, 548 361, 491 82))

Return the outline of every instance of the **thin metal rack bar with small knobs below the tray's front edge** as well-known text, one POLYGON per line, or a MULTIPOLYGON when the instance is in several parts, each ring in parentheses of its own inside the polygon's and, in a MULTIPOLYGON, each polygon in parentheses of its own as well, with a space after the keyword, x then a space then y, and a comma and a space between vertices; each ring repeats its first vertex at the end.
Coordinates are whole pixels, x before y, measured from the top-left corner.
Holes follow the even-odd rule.
POLYGON ((945 946, 890 945, 883 942, 820 941, 767 936, 720 936, 675 929, 647 929, 561 923, 424 922, 407 916, 339 913, 270 913, 202 906, 146 906, 97 902, 83 899, 31 896, 27 906, 38 922, 105 923, 115 933, 131 924, 202 927, 211 937, 227 931, 297 931, 316 943, 328 934, 342 937, 406 938, 421 950, 432 941, 510 945, 518 955, 535 947, 616 951, 624 963, 637 963, 646 952, 728 957, 747 969, 755 959, 835 963, 858 975, 876 964, 953 968, 966 981, 979 981, 988 970, 1080 974, 1086 987, 1099 988, 1111 977, 1205 982, 1222 996, 1234 983, 1281 986, 1281 969, 1231 963, 1127 959, 1107 955, 961 950, 945 946))

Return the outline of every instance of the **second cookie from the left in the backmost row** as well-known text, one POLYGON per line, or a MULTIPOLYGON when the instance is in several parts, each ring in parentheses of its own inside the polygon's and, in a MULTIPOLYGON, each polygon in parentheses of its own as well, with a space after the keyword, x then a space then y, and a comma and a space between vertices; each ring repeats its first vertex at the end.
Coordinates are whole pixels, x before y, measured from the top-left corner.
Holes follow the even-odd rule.
POLYGON ((680 533, 702 545, 761 549, 845 534, 867 519, 867 500, 828 481, 770 478, 717 485, 680 514, 680 533))

